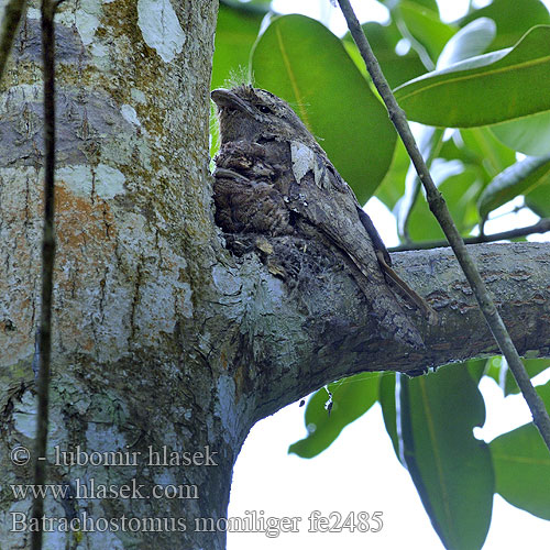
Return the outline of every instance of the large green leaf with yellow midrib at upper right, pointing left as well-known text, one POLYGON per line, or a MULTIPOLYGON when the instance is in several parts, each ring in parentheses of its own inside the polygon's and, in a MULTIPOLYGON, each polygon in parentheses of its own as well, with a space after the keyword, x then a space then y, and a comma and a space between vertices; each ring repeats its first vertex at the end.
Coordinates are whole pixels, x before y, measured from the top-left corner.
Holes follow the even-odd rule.
POLYGON ((550 110, 550 26, 537 26, 514 48, 429 73, 395 90, 410 120, 470 128, 550 110))

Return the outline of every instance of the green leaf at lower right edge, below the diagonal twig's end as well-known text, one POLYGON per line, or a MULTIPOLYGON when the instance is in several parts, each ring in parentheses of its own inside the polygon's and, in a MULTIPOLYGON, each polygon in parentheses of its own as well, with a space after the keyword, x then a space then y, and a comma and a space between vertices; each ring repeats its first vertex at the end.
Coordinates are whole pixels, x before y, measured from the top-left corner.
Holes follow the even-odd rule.
MULTIPOLYGON (((537 392, 550 409, 550 382, 537 392)), ((512 505, 550 519, 550 454, 532 422, 490 443, 496 491, 512 505)))

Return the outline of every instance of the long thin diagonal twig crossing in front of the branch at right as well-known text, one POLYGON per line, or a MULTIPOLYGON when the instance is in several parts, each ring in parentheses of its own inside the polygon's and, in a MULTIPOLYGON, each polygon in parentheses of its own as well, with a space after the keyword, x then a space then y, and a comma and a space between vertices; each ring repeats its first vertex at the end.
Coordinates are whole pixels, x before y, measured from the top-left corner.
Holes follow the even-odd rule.
POLYGON ((490 326, 503 355, 506 358, 516 382, 521 389, 525 400, 529 406, 535 425, 539 429, 544 443, 550 450, 550 418, 544 408, 544 404, 532 387, 529 375, 519 359, 519 354, 512 342, 498 311, 496 310, 493 299, 491 298, 487 288, 466 250, 464 241, 460 237, 460 233, 452 221, 447 204, 441 194, 438 191, 430 173, 426 167, 422 155, 420 154, 420 151, 415 142, 415 138, 410 132, 405 112, 397 105, 397 101, 392 94, 386 78, 382 74, 378 62, 373 54, 371 45, 361 29, 349 0, 338 0, 338 2, 345 21, 348 22, 348 28, 350 29, 353 40, 355 41, 355 44, 358 45, 358 48, 365 62, 371 78, 373 79, 376 89, 386 105, 389 118, 392 119, 392 122, 394 123, 403 143, 405 144, 405 147, 408 151, 408 154, 417 169, 418 176, 420 177, 420 182, 422 182, 422 185, 425 186, 430 210, 433 216, 436 216, 443 233, 449 240, 457 260, 459 261, 470 286, 472 287, 475 298, 477 299, 477 304, 485 316, 485 320, 487 321, 487 324, 490 326))

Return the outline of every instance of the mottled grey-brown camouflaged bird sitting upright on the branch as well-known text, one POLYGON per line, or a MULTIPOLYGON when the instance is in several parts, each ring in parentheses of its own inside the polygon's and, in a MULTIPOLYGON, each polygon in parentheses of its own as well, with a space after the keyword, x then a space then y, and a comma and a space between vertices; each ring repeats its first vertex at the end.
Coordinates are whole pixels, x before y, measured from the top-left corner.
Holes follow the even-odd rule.
POLYGON ((371 219, 293 109, 252 86, 217 89, 211 97, 221 135, 213 174, 218 226, 267 237, 320 232, 359 270, 354 278, 383 330, 421 346, 385 277, 431 320, 435 311, 392 270, 371 219))

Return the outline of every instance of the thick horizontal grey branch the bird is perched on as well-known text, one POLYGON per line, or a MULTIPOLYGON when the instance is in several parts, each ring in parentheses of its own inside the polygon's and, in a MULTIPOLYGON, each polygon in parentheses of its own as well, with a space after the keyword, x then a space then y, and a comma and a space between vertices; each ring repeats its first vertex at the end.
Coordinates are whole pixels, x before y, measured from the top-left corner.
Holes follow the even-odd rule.
MULTIPOLYGON (((242 369, 237 377, 256 378, 243 383, 254 388, 248 397, 251 407, 255 403, 249 411, 253 420, 359 372, 418 373, 499 353, 451 249, 392 254, 396 271, 440 319, 428 326, 402 301, 426 344, 413 351, 384 339, 348 270, 338 262, 320 265, 320 254, 327 251, 316 251, 311 242, 295 248, 304 251, 304 257, 295 258, 297 274, 287 273, 286 280, 270 274, 277 265, 273 255, 263 266, 254 252, 244 253, 240 267, 228 277, 227 296, 219 298, 224 320, 208 328, 211 334, 223 333, 218 352, 242 369)), ((480 244, 469 245, 469 252, 519 352, 550 356, 550 244, 480 244)))

